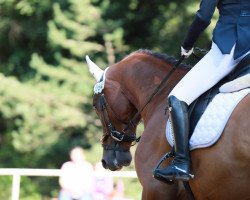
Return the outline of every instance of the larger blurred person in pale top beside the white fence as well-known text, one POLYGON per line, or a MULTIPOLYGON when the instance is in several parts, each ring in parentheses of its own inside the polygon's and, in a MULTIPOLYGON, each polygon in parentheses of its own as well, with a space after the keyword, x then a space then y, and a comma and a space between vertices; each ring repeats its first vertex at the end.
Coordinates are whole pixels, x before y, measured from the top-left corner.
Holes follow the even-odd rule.
POLYGON ((81 147, 70 151, 70 161, 61 167, 59 200, 90 200, 94 191, 94 168, 81 147))

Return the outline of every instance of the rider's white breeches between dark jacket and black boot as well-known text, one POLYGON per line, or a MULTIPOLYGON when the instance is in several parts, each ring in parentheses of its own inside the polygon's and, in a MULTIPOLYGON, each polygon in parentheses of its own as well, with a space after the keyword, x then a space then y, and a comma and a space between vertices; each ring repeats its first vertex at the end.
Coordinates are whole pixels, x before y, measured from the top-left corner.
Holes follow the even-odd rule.
POLYGON ((196 98, 228 75, 246 55, 234 60, 234 49, 222 54, 215 43, 211 50, 181 79, 170 95, 190 105, 196 98))

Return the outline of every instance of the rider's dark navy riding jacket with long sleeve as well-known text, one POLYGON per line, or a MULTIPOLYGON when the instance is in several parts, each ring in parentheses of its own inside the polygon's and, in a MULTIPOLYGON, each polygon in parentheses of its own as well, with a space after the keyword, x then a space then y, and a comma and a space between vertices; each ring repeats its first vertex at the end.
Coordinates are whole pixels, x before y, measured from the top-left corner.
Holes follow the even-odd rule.
POLYGON ((213 31, 213 42, 223 54, 229 54, 236 44, 234 59, 237 59, 250 51, 250 0, 201 0, 183 47, 193 47, 200 33, 210 24, 216 7, 219 19, 213 31))

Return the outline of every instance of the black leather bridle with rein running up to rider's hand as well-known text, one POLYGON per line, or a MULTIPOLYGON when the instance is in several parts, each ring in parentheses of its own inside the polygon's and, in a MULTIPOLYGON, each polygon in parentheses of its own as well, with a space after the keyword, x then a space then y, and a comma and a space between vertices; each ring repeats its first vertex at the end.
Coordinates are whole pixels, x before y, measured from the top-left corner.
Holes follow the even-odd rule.
MULTIPOLYGON (((144 106, 142 106, 142 108, 137 111, 137 113, 132 117, 132 119, 128 120, 128 122, 124 122, 123 120, 120 120, 119 117, 115 114, 115 112, 112 110, 112 108, 109 106, 105 95, 104 95, 104 91, 102 89, 102 91, 99 94, 99 103, 101 106, 101 110, 99 110, 100 113, 100 119, 104 124, 104 128, 105 128, 105 133, 103 134, 103 137, 101 139, 103 148, 105 150, 118 150, 118 151, 126 151, 124 149, 117 149, 115 146, 111 147, 110 145, 105 145, 104 142, 111 137, 116 143, 121 143, 121 142, 139 142, 140 137, 136 138, 136 134, 135 133, 129 133, 128 131, 132 129, 134 129, 137 125, 138 125, 138 118, 141 116, 142 111, 145 109, 145 107, 149 104, 149 102, 153 99, 153 97, 160 91, 160 89, 162 89, 163 85, 165 84, 165 82, 169 79, 169 77, 172 75, 172 73, 176 70, 176 68, 180 65, 180 63, 183 61, 184 56, 182 56, 177 62, 176 64, 173 66, 173 68, 170 70, 170 72, 165 76, 165 78, 161 81, 161 83, 156 87, 156 89, 154 90, 154 92, 150 95, 150 97, 148 98, 148 100, 146 101, 146 103, 144 104, 144 106), (122 129, 122 131, 118 131, 115 126, 112 124, 112 121, 110 120, 108 111, 107 111, 107 107, 109 107, 109 110, 111 110, 111 112, 113 113, 113 115, 115 116, 115 118, 120 121, 122 124, 125 124, 125 128, 122 129)), ((103 77, 100 81, 103 80, 103 77)), ((97 110, 96 105, 93 105, 94 108, 97 110)))

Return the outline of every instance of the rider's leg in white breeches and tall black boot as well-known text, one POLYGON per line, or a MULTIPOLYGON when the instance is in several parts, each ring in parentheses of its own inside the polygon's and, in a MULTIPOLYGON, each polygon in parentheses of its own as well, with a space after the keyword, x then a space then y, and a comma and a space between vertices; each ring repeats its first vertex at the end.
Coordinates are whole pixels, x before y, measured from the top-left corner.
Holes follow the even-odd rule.
POLYGON ((169 95, 170 121, 175 139, 175 158, 164 169, 156 169, 154 176, 165 179, 187 181, 190 179, 189 119, 187 107, 201 94, 229 74, 240 59, 230 54, 222 54, 216 44, 204 58, 175 86, 169 95))

